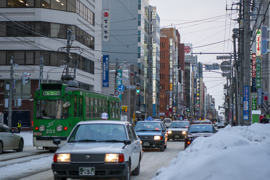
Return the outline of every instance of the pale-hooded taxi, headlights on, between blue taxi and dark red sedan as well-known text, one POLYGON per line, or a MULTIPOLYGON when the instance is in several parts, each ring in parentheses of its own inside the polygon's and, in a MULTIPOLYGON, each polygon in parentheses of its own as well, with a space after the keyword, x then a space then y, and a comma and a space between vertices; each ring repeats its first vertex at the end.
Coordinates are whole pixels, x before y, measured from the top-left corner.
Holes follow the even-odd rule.
POLYGON ((189 122, 187 121, 173 121, 170 128, 167 130, 168 141, 172 140, 183 140, 187 134, 189 128, 189 122))

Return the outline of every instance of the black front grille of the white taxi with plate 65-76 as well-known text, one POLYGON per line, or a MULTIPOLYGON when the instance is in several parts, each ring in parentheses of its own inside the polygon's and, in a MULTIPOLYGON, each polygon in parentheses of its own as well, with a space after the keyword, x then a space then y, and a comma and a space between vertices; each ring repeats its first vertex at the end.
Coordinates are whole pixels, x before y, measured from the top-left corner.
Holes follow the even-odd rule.
POLYGON ((70 154, 72 163, 104 163, 105 154, 70 154))

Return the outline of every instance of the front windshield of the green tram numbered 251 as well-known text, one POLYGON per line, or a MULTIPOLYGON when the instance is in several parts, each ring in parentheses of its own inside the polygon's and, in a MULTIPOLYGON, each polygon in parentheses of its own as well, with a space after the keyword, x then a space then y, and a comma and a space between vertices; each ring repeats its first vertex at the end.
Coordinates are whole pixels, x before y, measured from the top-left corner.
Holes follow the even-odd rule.
POLYGON ((68 107, 63 107, 63 100, 38 100, 36 108, 37 119, 67 119, 68 107))

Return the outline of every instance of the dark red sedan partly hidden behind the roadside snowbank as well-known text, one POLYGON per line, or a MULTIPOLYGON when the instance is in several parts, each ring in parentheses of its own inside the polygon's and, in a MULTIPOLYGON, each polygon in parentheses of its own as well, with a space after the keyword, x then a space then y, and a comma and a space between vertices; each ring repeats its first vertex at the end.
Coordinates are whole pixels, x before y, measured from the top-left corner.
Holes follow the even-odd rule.
POLYGON ((210 122, 198 122, 190 125, 185 136, 185 149, 192 143, 197 137, 208 137, 216 133, 214 126, 210 122))

